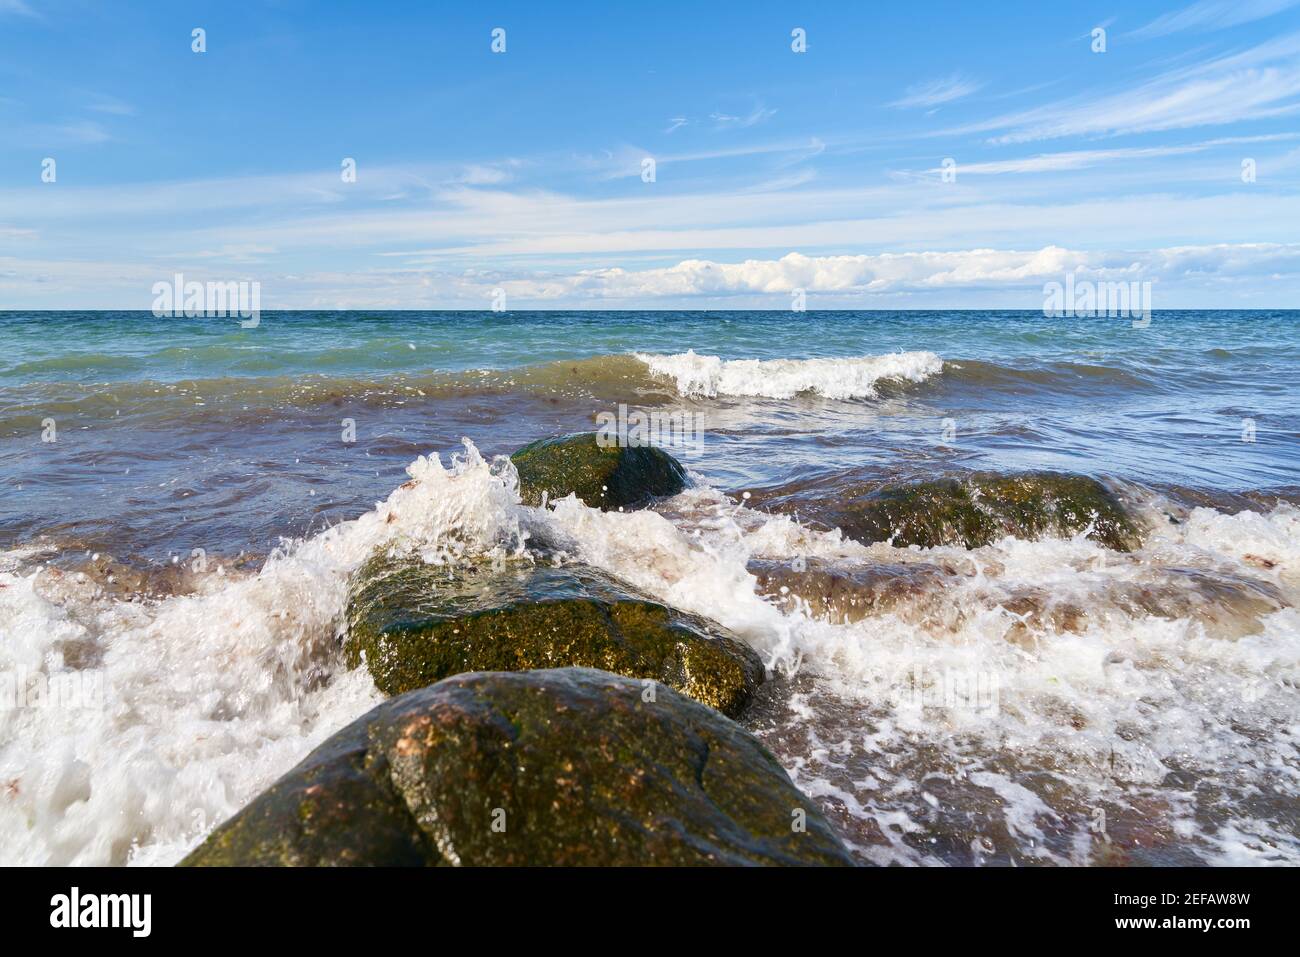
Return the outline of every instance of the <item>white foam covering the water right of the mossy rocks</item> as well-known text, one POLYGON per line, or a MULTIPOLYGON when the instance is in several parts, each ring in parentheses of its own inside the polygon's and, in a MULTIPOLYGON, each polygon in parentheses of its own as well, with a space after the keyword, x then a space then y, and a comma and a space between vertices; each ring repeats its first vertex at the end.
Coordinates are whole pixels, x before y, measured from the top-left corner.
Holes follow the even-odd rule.
MULTIPOLYGON (((679 511, 689 520, 676 523, 645 511, 595 512, 571 498, 555 503, 551 531, 568 536, 581 560, 734 629, 771 666, 815 676, 815 693, 792 709, 790 723, 766 729, 800 787, 880 828, 884 844, 854 841, 863 857, 936 862, 909 843, 924 830, 920 822, 944 813, 914 787, 909 775, 919 772, 950 778, 966 800, 983 794, 980 806, 996 809, 1002 819, 996 840, 967 852, 978 859, 997 844, 1013 859, 1088 862, 1100 839, 1079 807, 1113 802, 1176 833, 1205 861, 1253 853, 1256 862, 1300 862, 1300 839, 1284 836, 1275 820, 1244 813, 1234 820, 1234 828, 1254 835, 1252 845, 1208 826, 1206 809, 1165 787, 1179 770, 1209 781, 1199 793, 1210 802, 1268 789, 1278 805, 1300 798, 1294 693, 1300 611, 1260 611, 1256 632, 1239 635, 1213 618, 1154 618, 1114 598, 1135 588, 1178 589, 1187 568, 1201 568, 1226 581, 1274 585, 1286 603, 1300 603, 1286 564, 1296 541, 1290 506, 1266 515, 1197 510, 1193 520, 1167 527, 1131 555, 1083 534, 918 553, 807 532, 707 489, 686 497, 679 511), (1252 555, 1278 564, 1261 567, 1252 555), (745 570, 751 557, 928 559, 974 566, 974 573, 915 597, 940 606, 935 614, 909 615, 905 602, 894 612, 835 624, 810 618, 797 602, 777 610, 759 597, 745 570), (1026 593, 1074 602, 1089 615, 1080 631, 1058 633, 1005 607, 1026 593), (1024 635, 1017 638, 1018 629, 1024 635), (828 745, 822 735, 841 723, 845 739, 828 745), (792 737, 803 746, 790 750, 792 737), (942 767, 918 770, 915 755, 927 752, 942 755, 942 767), (855 771, 863 767, 864 774, 855 771), (1045 768, 1065 784, 1060 807, 1030 787, 1045 768), (855 788, 866 778, 874 780, 855 788), (1219 797, 1212 796, 1216 789, 1219 797), (1050 830, 1067 832, 1052 848, 1050 830)), ((954 813, 953 830, 963 830, 966 810, 954 813)))

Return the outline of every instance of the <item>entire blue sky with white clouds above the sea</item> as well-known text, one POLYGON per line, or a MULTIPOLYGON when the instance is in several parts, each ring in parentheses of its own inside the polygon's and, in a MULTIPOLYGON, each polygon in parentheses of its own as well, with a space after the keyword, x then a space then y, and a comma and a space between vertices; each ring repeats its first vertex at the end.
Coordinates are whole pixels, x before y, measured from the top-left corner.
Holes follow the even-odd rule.
POLYGON ((1300 0, 0 0, 0 309, 177 273, 263 308, 1034 309, 1069 273, 1300 308, 1300 0))

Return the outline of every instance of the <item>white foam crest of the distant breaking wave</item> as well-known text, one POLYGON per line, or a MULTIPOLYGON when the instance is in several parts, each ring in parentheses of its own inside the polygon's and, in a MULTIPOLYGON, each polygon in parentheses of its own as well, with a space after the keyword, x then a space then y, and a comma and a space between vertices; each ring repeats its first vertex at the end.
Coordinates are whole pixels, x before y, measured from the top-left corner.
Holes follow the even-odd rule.
POLYGON ((888 352, 853 359, 722 359, 697 355, 633 354, 651 373, 673 380, 682 397, 750 395, 789 399, 815 393, 828 399, 876 395, 881 380, 923 382, 944 371, 933 352, 888 352))

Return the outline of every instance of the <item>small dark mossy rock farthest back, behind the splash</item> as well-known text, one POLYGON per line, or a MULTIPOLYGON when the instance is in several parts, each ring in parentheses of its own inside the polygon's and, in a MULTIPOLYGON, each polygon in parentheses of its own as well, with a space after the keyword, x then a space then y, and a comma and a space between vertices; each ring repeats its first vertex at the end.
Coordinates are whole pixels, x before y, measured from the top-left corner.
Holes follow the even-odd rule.
POLYGON ((686 471, 653 446, 604 447, 584 432, 525 445, 510 456, 524 505, 554 502, 571 492, 593 508, 632 508, 686 488, 686 471))

